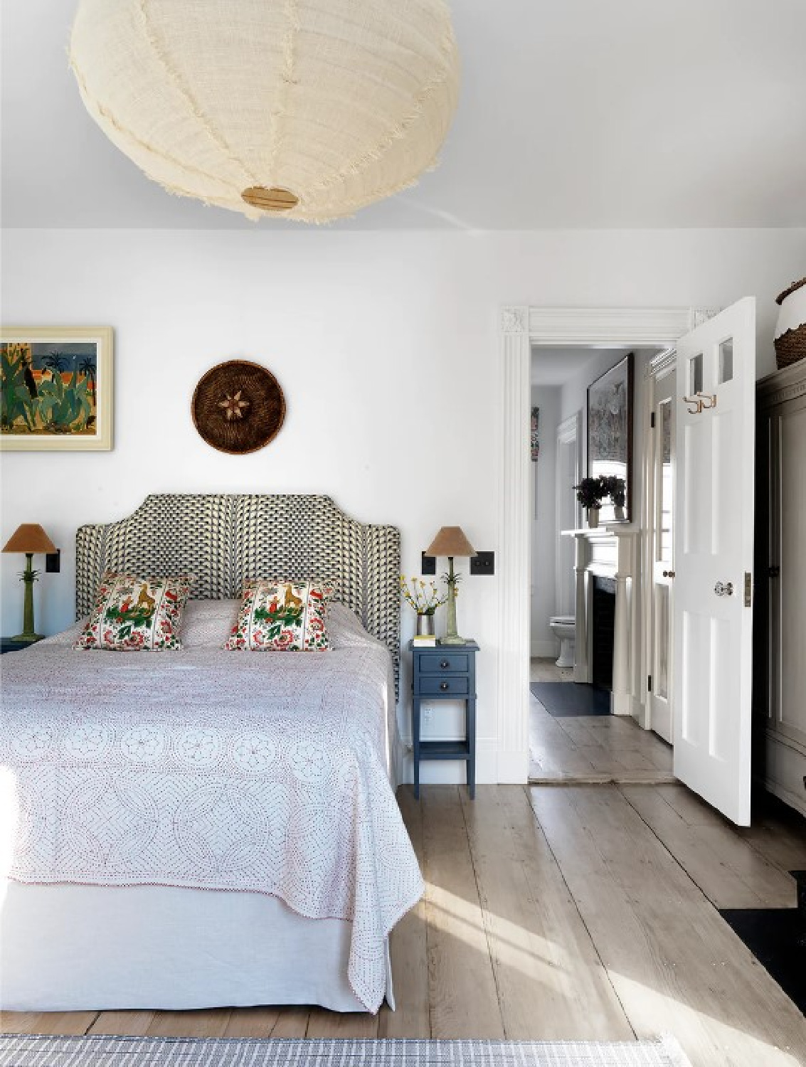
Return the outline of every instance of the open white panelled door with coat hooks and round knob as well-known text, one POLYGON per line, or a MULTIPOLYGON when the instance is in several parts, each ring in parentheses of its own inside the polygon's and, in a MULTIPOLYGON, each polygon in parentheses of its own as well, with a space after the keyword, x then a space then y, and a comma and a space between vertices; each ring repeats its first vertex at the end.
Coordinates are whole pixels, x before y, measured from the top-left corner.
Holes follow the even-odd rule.
POLYGON ((675 775, 750 821, 756 302, 677 346, 675 775))

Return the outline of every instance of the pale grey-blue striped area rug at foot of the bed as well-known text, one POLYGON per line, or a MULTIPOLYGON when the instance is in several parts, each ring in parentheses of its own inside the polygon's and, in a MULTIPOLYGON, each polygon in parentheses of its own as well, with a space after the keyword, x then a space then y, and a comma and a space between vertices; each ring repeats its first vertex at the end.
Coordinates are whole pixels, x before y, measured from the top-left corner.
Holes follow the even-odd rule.
POLYGON ((654 1041, 259 1040, 0 1036, 0 1067, 691 1067, 654 1041))

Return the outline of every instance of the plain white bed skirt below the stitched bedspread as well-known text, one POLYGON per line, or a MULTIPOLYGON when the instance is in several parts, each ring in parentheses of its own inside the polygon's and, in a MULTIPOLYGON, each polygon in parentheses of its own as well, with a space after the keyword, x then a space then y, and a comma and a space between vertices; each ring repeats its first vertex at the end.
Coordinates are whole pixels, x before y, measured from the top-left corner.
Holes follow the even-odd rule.
MULTIPOLYGON (((363 1012, 352 924, 259 893, 0 881, 0 1006, 19 1012, 319 1004, 363 1012)), ((386 1000, 394 1007, 386 943, 386 1000)))

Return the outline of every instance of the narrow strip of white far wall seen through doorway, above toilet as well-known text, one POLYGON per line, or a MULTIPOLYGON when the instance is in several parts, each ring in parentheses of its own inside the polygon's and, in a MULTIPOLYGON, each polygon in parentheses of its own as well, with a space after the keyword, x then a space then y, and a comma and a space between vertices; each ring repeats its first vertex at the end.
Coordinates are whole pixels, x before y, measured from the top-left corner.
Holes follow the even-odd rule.
POLYGON ((540 409, 540 458, 532 464, 532 655, 556 656, 556 638, 549 626, 554 615, 557 516, 555 494, 559 388, 532 386, 532 404, 540 409), (537 508, 535 508, 535 494, 537 508))

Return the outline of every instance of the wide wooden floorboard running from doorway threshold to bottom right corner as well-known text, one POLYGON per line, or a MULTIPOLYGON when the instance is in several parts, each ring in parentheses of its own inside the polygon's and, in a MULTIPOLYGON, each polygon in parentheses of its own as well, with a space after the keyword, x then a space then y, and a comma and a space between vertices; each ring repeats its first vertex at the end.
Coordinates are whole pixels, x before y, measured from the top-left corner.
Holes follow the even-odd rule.
POLYGON ((616 787, 530 791, 559 869, 639 1037, 693 1067, 795 1067, 804 1019, 616 787))

